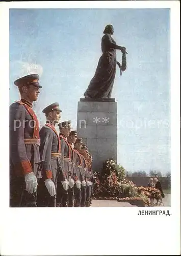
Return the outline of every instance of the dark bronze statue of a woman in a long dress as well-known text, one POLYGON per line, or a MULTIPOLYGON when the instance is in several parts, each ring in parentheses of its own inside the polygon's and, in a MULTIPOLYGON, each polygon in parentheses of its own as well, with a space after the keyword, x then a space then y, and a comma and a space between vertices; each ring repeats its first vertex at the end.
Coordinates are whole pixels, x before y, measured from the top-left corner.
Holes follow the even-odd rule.
POLYGON ((102 55, 99 58, 95 75, 84 93, 85 98, 111 98, 116 64, 121 69, 121 64, 116 60, 116 49, 121 50, 123 54, 126 53, 126 48, 118 46, 111 37, 114 33, 112 25, 107 25, 103 33, 105 35, 101 39, 102 55))

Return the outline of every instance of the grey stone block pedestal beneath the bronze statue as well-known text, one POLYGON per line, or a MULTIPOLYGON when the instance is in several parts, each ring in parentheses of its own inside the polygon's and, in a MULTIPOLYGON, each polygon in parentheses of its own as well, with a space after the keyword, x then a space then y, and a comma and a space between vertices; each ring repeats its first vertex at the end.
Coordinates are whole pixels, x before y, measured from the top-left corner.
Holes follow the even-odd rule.
POLYGON ((93 155, 92 168, 99 172, 102 163, 117 161, 117 102, 115 99, 80 99, 77 110, 77 134, 93 155))

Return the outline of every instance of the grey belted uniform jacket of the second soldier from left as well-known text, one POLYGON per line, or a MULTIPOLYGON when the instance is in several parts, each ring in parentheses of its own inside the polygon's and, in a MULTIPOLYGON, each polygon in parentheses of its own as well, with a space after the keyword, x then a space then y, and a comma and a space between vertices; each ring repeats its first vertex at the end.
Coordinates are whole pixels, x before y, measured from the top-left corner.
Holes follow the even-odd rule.
POLYGON ((55 183, 57 183, 57 174, 59 173, 62 177, 62 181, 65 180, 63 170, 61 168, 61 141, 55 126, 51 123, 46 123, 40 129, 40 139, 41 159, 43 152, 45 153, 42 178, 52 179, 55 183), (46 140, 48 142, 46 142, 46 140))

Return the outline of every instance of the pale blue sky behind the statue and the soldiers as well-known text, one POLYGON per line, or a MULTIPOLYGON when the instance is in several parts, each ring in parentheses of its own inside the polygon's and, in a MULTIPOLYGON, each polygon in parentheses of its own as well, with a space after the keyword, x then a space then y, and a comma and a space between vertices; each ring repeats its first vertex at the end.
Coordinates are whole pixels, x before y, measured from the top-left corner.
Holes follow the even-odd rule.
MULTIPOLYGON (((107 24, 126 47, 127 70, 117 67, 112 98, 118 102, 117 162, 131 172, 170 171, 169 9, 11 9, 10 103, 19 99, 13 81, 38 73, 42 89, 34 110, 59 102, 61 120, 76 129, 77 102, 101 56, 107 24)), ((121 52, 117 51, 121 62, 121 52)))

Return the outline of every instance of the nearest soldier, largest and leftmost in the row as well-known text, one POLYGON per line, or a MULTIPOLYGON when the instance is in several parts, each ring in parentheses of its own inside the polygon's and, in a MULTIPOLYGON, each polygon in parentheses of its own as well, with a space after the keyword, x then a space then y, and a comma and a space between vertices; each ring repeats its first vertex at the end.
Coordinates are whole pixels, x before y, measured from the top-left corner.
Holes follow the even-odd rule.
POLYGON ((10 105, 10 207, 36 207, 39 123, 32 106, 42 88, 39 75, 14 81, 20 101, 10 105))

